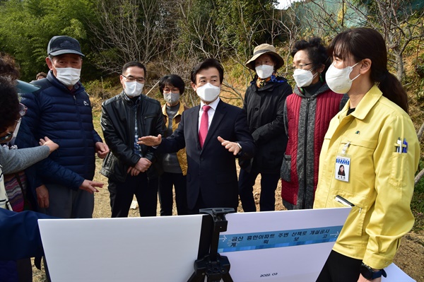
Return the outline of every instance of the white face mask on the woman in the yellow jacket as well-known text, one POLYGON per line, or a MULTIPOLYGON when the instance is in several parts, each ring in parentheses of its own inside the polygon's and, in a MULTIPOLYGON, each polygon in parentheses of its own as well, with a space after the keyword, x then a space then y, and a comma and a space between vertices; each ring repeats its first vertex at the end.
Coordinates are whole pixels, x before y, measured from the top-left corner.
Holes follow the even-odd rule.
MULTIPOLYGON (((359 64, 359 62, 353 66, 356 66, 357 64, 359 64)), ((331 64, 325 74, 325 81, 329 88, 338 94, 348 93, 351 89, 352 81, 360 76, 360 74, 358 74, 358 76, 355 76, 353 79, 349 78, 353 66, 346 66, 344 69, 337 69, 334 64, 331 64)))

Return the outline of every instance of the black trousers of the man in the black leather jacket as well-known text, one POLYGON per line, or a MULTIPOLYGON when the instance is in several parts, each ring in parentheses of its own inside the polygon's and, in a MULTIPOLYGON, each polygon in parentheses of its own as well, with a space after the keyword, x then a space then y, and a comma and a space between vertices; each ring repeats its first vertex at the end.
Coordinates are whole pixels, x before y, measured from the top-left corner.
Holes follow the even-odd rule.
POLYGON ((158 206, 158 178, 148 179, 146 172, 127 175, 124 183, 109 180, 112 218, 128 216, 129 207, 136 195, 140 216, 156 216, 158 206))

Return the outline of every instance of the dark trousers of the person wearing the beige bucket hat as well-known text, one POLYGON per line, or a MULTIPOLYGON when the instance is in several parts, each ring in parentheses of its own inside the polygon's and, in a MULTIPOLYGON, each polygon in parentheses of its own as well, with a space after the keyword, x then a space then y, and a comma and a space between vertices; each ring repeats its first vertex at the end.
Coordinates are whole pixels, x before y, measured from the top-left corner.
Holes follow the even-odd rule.
MULTIPOLYGON (((243 211, 256 211, 253 198, 253 185, 259 175, 259 171, 252 168, 251 172, 240 169, 239 196, 242 201, 243 211)), ((261 199, 259 206, 261 211, 275 211, 276 189, 280 180, 279 173, 261 173, 261 199)))

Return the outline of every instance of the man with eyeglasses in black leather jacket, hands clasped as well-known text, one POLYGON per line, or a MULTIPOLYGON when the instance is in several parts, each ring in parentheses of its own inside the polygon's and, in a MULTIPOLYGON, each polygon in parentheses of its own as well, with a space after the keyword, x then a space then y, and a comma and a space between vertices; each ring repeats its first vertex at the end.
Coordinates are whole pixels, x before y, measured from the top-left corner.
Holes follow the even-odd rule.
POLYGON ((130 61, 119 76, 122 93, 102 103, 101 125, 110 153, 102 175, 109 178, 112 218, 126 217, 134 194, 140 216, 156 216, 158 169, 154 149, 139 145, 139 137, 162 134, 163 114, 157 100, 143 95, 146 67, 130 61))

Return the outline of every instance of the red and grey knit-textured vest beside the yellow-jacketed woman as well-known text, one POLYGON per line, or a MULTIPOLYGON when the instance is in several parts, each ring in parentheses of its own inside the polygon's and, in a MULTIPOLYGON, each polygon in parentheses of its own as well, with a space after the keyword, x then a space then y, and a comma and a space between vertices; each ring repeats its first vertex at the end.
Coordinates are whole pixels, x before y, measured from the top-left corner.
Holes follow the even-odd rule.
POLYGON ((319 153, 342 97, 324 84, 310 98, 296 87, 295 93, 285 100, 288 144, 281 166, 281 196, 288 209, 312 208, 314 204, 319 153))

